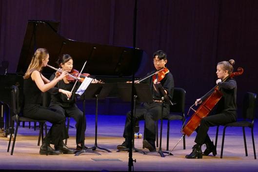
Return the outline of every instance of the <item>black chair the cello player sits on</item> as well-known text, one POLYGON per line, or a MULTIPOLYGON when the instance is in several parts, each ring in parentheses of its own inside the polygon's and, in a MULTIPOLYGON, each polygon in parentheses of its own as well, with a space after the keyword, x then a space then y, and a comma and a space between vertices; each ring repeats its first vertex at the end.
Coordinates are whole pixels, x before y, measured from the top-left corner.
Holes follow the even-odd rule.
MULTIPOLYGON (((254 118, 255 118, 256 100, 257 100, 256 94, 247 92, 243 99, 243 111, 242 111, 243 119, 239 120, 237 122, 232 122, 232 123, 224 125, 220 158, 222 158, 222 155, 223 155, 224 138, 225 138, 225 132, 226 132, 227 127, 242 127, 243 137, 244 137, 245 156, 248 156, 247 147, 246 147, 245 130, 244 130, 245 127, 248 127, 248 128, 251 128, 252 142, 253 142, 253 149, 254 149, 254 158, 256 159, 255 139, 254 139, 254 118)), ((218 142, 218 128, 219 128, 219 126, 217 126, 217 132, 216 132, 216 142, 215 142, 216 147, 217 147, 217 142, 218 142)))

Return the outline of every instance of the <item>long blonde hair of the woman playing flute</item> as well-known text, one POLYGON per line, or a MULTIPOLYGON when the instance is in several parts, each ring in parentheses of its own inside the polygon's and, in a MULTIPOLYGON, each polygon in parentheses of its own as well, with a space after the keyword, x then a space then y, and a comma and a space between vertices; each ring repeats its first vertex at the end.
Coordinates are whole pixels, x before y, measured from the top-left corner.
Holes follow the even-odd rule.
POLYGON ((27 79, 30 77, 31 73, 35 70, 41 71, 42 70, 42 62, 43 59, 45 59, 48 55, 48 51, 45 48, 38 48, 34 56, 32 57, 32 60, 30 62, 30 65, 24 74, 23 78, 27 79))

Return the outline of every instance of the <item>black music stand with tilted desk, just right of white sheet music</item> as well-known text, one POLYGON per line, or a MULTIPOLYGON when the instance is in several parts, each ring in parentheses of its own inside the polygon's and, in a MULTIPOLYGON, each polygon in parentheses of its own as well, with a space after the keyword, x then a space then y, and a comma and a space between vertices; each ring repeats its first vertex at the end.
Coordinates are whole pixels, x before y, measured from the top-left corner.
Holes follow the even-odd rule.
MULTIPOLYGON (((88 88, 85 90, 85 92, 83 93, 83 95, 81 96, 83 102, 85 102, 86 99, 96 99, 96 114, 95 114, 95 144, 93 147, 88 148, 87 150, 93 150, 95 151, 97 148, 107 151, 109 153, 111 153, 110 150, 106 149, 106 148, 101 148, 98 146, 97 144, 97 135, 98 135, 98 100, 99 99, 104 99, 106 98, 110 91, 112 90, 114 84, 112 83, 95 83, 95 84, 90 84, 88 86, 88 88)), ((85 103, 83 104, 83 106, 85 107, 85 103)), ((98 153, 100 154, 100 153, 98 153)))

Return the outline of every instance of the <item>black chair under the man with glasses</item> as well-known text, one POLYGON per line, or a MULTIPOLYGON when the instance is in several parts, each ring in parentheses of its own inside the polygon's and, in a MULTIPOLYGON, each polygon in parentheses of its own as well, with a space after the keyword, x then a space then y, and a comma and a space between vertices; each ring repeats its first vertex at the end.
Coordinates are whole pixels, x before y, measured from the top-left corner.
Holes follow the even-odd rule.
MULTIPOLYGON (((184 115, 184 107, 185 107, 185 90, 182 88, 174 88, 174 94, 172 102, 176 103, 175 105, 170 106, 170 114, 167 117, 163 117, 163 120, 167 120, 167 148, 169 149, 169 131, 170 131, 170 121, 172 120, 181 120, 182 124, 185 122, 185 115, 184 115)), ((156 123, 156 140, 157 140, 157 147, 159 146, 158 140, 158 121, 156 123)), ((185 149, 185 136, 183 136, 183 149, 185 149)))

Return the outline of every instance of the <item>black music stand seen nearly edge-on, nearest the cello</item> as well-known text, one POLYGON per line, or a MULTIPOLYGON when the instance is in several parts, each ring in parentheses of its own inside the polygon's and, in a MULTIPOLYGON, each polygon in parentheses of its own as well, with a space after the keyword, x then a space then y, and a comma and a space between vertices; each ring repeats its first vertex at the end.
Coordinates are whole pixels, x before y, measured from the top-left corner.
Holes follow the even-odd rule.
MULTIPOLYGON (((153 154, 153 153, 159 153, 161 157, 165 157, 164 156, 164 153, 167 153, 169 154, 169 152, 166 152, 166 151, 162 151, 161 149, 161 141, 162 141, 162 127, 163 127, 163 109, 164 109, 164 101, 167 101, 168 103, 170 103, 168 97, 166 96, 166 93, 164 91, 164 88, 162 87, 161 84, 154 84, 154 88, 156 89, 156 91, 160 94, 161 97, 161 100, 162 100, 162 107, 161 107, 161 118, 160 118, 160 134, 159 134, 159 151, 156 151, 156 152, 147 152, 145 154, 153 154), (166 99, 165 99, 165 96, 166 96, 166 99)), ((172 103, 173 105, 173 103, 172 103)), ((171 153, 171 155, 173 155, 171 153)))

